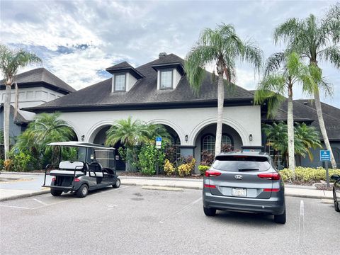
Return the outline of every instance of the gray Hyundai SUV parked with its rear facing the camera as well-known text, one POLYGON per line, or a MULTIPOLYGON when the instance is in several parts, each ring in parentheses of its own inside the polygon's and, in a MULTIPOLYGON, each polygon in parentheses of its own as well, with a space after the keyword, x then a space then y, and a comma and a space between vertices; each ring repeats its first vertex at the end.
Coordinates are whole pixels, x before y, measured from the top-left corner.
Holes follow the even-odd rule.
POLYGON ((285 224, 285 187, 273 160, 263 152, 228 152, 215 157, 203 181, 203 210, 259 212, 285 224))

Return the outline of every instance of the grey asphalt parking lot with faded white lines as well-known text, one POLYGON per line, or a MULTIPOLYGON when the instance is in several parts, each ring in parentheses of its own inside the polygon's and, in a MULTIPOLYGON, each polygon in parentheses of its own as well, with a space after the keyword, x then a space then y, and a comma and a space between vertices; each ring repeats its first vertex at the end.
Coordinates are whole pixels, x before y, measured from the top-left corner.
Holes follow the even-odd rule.
POLYGON ((334 254, 340 213, 286 198, 288 220, 203 213, 201 192, 121 186, 86 198, 50 194, 0 203, 0 254, 334 254))

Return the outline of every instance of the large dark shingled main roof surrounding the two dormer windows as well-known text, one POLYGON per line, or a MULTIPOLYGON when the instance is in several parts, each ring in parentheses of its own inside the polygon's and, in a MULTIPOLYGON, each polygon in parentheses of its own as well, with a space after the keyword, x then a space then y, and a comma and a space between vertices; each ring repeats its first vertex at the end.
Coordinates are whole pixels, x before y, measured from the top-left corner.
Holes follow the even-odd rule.
MULTIPOLYGON (((138 80, 128 92, 111 93, 112 79, 106 79, 98 84, 86 87, 67 96, 47 102, 42 106, 26 108, 28 111, 96 111, 96 108, 110 110, 123 109, 134 106, 142 108, 151 106, 154 108, 183 107, 185 103, 196 104, 192 107, 204 107, 204 103, 212 103, 217 106, 217 86, 212 86, 212 74, 206 72, 200 94, 194 94, 190 88, 186 76, 182 76, 174 90, 157 90, 157 72, 152 68, 155 64, 181 63, 184 60, 170 54, 157 60, 137 67, 136 70, 144 76, 138 80)), ((217 83, 217 81, 215 81, 217 83)), ((225 103, 233 102, 243 105, 251 105, 253 94, 235 86, 233 93, 225 91, 225 103)), ((97 110, 98 111, 98 110, 97 110)))

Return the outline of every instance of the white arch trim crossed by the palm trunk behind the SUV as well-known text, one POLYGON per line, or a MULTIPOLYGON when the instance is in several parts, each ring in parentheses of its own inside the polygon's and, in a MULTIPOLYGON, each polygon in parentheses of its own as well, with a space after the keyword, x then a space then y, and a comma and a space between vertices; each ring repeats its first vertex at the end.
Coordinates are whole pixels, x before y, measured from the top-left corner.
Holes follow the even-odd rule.
MULTIPOLYGON (((193 128, 193 130, 190 133, 190 136, 189 136, 189 139, 188 139, 189 145, 195 145, 196 138, 197 138, 199 132, 201 130, 203 130, 203 128, 207 127, 208 125, 216 124, 216 123, 217 123, 216 118, 208 118, 208 119, 203 120, 202 122, 198 123, 198 125, 196 125, 195 128, 193 128)), ((236 132, 241 137, 243 145, 249 145, 249 141, 248 141, 248 138, 247 138, 248 137, 247 132, 246 132, 246 130, 244 130, 242 125, 237 123, 237 121, 229 119, 229 118, 223 118, 222 123, 225 124, 225 125, 229 125, 229 127, 234 128, 234 130, 236 130, 236 132)))

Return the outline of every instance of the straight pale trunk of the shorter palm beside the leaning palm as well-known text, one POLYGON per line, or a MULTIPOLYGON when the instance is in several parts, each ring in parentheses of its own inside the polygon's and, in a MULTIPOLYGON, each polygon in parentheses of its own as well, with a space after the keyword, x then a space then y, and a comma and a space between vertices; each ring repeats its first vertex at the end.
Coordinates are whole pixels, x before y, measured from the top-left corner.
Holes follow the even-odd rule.
MULTIPOLYGON (((291 92, 291 89, 290 89, 291 92)), ((294 118, 293 118, 293 95, 288 92, 288 111, 287 111, 287 129, 288 129, 288 166, 295 171, 295 149, 294 149, 294 118)))

